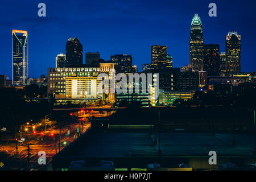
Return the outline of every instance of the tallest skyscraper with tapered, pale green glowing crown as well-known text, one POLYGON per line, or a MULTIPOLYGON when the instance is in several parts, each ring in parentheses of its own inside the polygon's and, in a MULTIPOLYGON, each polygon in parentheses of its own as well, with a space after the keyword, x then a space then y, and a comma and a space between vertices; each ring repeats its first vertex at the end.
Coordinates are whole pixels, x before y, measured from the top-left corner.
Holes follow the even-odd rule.
POLYGON ((192 19, 189 40, 189 63, 193 71, 203 71, 204 38, 202 22, 198 14, 192 19))

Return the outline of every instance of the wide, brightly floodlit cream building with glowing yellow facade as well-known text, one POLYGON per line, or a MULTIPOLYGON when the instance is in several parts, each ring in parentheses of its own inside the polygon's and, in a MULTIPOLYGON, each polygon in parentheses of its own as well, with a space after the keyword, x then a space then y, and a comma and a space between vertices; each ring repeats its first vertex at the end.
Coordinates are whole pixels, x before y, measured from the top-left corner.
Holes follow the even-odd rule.
MULTIPOLYGON (((113 72, 114 64, 112 63, 100 63, 98 67, 90 67, 90 65, 86 66, 84 64, 77 68, 48 68, 47 93, 58 98, 105 97, 97 88, 100 82, 98 75, 108 73, 109 78, 113 78, 113 72)), ((114 100, 114 94, 110 92, 106 94, 109 101, 114 100)))

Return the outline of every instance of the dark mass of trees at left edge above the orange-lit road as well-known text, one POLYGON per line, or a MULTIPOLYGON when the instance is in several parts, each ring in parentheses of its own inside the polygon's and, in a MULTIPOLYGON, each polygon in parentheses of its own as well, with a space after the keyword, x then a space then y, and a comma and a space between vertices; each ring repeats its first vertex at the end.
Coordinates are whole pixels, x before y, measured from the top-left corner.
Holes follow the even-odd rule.
POLYGON ((24 89, 0 89, 0 126, 14 130, 27 121, 38 121, 49 113, 51 102, 47 100, 29 101, 27 98, 43 98, 47 94, 47 86, 28 85, 24 89))

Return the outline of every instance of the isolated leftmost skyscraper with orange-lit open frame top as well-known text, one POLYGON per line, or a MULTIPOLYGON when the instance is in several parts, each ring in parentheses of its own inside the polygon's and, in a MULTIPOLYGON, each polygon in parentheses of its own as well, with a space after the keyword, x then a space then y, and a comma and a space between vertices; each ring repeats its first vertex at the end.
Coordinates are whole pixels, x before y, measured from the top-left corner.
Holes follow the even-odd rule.
POLYGON ((13 85, 27 85, 28 35, 24 30, 13 30, 13 85))

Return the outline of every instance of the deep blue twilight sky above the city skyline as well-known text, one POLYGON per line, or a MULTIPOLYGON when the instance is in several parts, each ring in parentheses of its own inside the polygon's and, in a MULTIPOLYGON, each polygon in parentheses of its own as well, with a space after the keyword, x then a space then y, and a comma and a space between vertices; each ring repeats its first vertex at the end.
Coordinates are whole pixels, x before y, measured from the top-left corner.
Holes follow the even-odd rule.
POLYGON ((135 0, 31 0, 2 1, 0 6, 0 75, 11 78, 11 30, 28 31, 28 76, 47 74, 55 57, 65 53, 68 38, 77 36, 85 52, 110 55, 128 53, 139 71, 151 61, 151 45, 167 46, 174 67, 189 64, 189 31, 198 13, 205 44, 220 43, 237 31, 242 39, 242 72, 256 71, 255 1, 135 1, 135 0), (38 4, 46 3, 46 17, 38 16, 38 4), (217 4, 217 17, 208 16, 208 5, 217 4))

